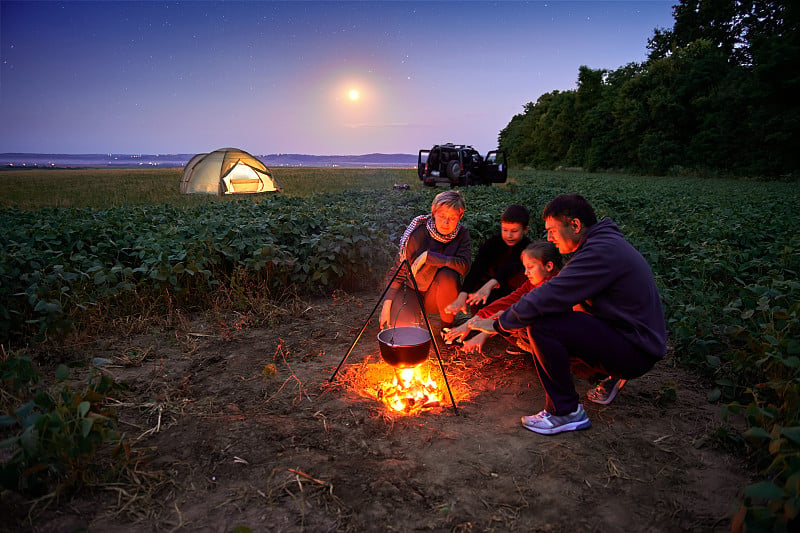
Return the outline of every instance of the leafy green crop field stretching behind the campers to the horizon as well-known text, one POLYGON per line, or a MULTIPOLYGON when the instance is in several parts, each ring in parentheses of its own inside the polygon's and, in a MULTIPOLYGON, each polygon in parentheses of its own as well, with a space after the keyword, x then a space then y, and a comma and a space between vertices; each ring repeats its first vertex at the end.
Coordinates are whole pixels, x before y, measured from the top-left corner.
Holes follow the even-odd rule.
MULTIPOLYGON (((202 308, 219 291, 374 288, 408 221, 442 190, 421 187, 415 172, 278 169, 285 194, 243 199, 182 197, 179 169, 0 172, 0 343, 49 342, 143 308, 202 308)), ((507 184, 464 189, 464 223, 480 242, 506 205, 521 203, 540 236, 537 213, 563 192, 614 218, 648 259, 671 360, 745 421, 744 434, 716 435, 721 446, 747 445, 760 472, 744 492, 745 519, 796 516, 798 185, 516 171, 507 184)))

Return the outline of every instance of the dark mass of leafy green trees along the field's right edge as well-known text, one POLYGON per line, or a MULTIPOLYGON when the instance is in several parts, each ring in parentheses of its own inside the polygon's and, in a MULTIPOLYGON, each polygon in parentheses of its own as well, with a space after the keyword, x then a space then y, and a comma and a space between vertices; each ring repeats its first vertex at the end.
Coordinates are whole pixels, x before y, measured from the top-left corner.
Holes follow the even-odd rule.
POLYGON ((510 164, 796 179, 800 2, 680 0, 673 18, 643 63, 581 66, 526 104, 499 134, 510 164))

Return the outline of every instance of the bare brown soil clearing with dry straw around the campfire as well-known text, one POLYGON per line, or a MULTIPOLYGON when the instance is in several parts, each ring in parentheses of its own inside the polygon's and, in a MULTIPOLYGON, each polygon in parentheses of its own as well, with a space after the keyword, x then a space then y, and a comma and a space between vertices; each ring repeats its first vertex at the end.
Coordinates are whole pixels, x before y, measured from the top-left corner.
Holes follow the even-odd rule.
MULTIPOLYGON (((120 429, 150 460, 119 484, 30 512, 5 493, 0 529, 730 529, 747 473, 709 446, 719 408, 669 360, 612 405, 587 402, 590 429, 548 437, 519 423, 544 394, 522 358, 501 356, 502 340, 484 355, 440 341, 457 413, 445 393, 437 408, 393 414, 367 383, 386 366, 375 317, 329 383, 374 304, 371 294, 338 294, 277 313, 269 327, 228 331, 198 318, 109 332, 86 355, 108 359, 126 386, 120 429)), ((429 364, 439 372, 435 350, 429 364)))

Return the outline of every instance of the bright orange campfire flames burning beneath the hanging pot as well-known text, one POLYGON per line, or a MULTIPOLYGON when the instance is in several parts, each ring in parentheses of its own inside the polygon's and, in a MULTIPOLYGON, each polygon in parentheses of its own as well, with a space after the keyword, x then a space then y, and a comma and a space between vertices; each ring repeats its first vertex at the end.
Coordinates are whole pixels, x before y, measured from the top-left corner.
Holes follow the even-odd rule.
POLYGON ((430 369, 426 377, 422 376, 422 366, 394 369, 394 378, 378 385, 378 400, 392 411, 405 414, 438 407, 443 401, 439 384, 431 378, 430 369))

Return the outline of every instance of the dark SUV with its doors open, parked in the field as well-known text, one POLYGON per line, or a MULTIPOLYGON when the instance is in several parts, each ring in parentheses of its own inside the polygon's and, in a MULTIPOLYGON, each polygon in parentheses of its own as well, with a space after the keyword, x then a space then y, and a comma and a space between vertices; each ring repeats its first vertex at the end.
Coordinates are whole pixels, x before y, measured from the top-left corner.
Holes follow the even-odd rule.
POLYGON ((494 150, 481 154, 466 144, 437 144, 430 150, 420 150, 417 174, 422 183, 435 187, 447 183, 459 185, 491 185, 505 183, 508 177, 506 154, 494 150))

